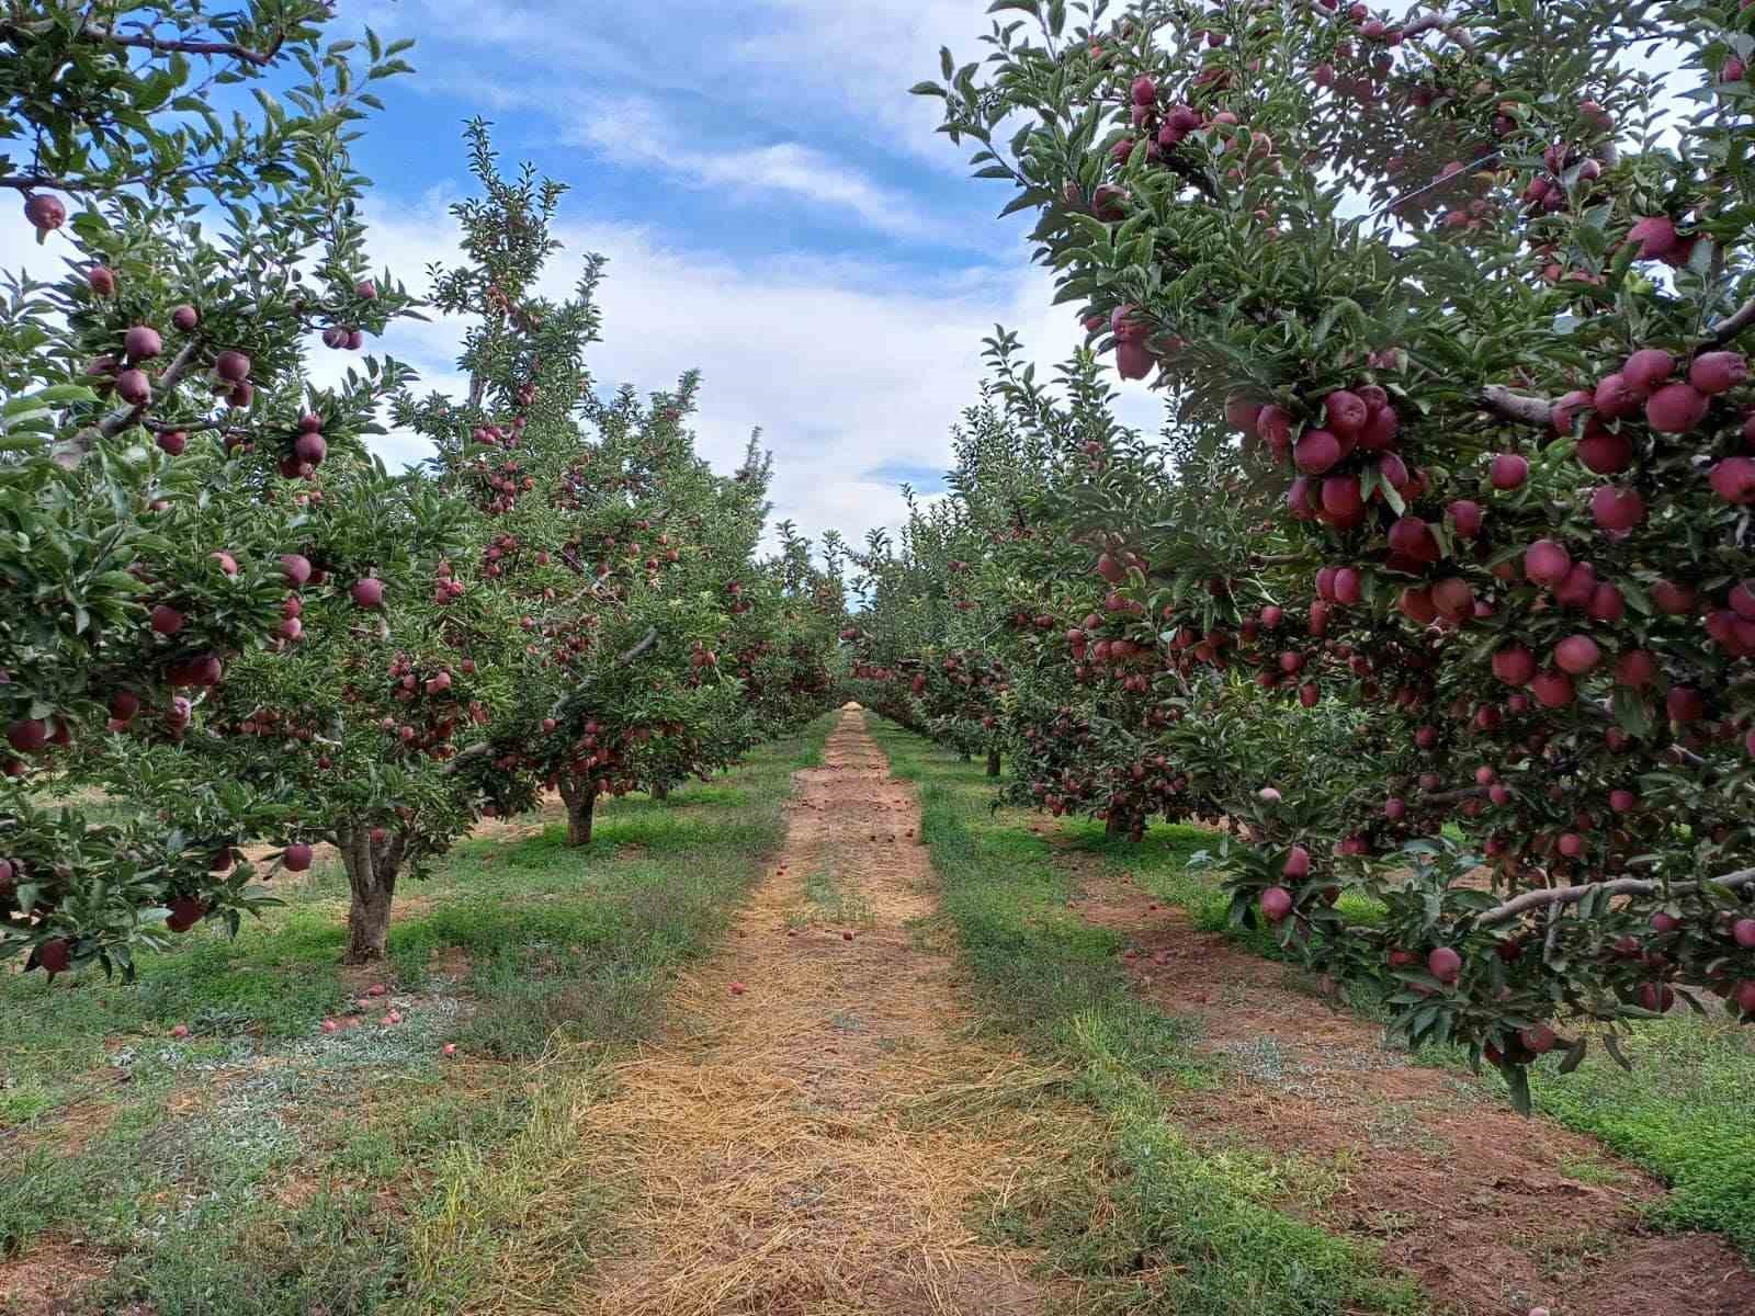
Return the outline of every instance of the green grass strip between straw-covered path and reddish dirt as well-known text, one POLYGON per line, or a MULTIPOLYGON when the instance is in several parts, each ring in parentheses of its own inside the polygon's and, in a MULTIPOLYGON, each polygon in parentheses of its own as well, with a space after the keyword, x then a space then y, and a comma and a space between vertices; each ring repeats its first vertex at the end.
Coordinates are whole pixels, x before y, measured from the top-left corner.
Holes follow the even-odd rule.
POLYGON ((942 911, 993 1026, 1078 1072, 1102 1116, 1104 1167, 1083 1197, 1064 1177, 1025 1188, 992 1228, 1049 1249, 1106 1311, 1176 1316, 1418 1312, 1415 1286, 1376 1253, 1285 1207, 1302 1176, 1283 1160, 1197 1148, 1174 1121, 1176 1084, 1216 1081, 1188 1026, 1137 1000, 1120 937, 1065 912, 1072 881, 1048 844, 988 809, 983 765, 867 719, 897 776, 920 784, 942 911), (1093 1223, 1099 1221, 1099 1223, 1093 1223))

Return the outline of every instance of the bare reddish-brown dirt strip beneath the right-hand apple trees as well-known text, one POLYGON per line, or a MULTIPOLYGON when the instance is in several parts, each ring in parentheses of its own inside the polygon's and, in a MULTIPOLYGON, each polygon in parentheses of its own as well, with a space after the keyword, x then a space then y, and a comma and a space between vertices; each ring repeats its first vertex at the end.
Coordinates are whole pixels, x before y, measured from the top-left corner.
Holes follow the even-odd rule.
POLYGON ((1534 1304, 1555 1316, 1755 1312, 1755 1274, 1723 1239, 1641 1228, 1639 1204, 1662 1193, 1651 1176, 1409 1065, 1381 1028, 1300 990, 1297 970, 1065 860, 1081 872, 1079 912, 1127 935, 1139 991, 1199 1019, 1204 1044, 1234 1063, 1223 1088, 1178 1095, 1178 1116, 1214 1139, 1343 1162, 1346 1186, 1322 1223, 1381 1239, 1439 1302, 1469 1316, 1534 1304))

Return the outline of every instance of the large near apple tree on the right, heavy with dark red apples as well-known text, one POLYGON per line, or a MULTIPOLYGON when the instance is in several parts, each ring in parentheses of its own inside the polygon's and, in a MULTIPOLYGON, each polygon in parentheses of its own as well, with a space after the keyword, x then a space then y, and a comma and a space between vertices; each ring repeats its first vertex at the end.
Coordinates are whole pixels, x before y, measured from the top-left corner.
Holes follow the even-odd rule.
POLYGON ((1755 11, 993 11, 916 91, 1211 454, 1172 523, 1085 509, 1120 639, 1181 725, 1248 674, 1353 747, 1246 737, 1234 916, 1520 1102, 1678 998, 1755 1012, 1755 11))

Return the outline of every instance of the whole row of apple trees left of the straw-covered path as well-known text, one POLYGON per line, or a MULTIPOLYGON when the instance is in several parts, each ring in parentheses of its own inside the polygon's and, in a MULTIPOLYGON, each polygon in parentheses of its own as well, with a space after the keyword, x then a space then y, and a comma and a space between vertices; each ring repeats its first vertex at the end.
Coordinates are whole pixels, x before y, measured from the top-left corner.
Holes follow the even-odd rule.
POLYGON ((355 68, 326 7, 263 5, 202 53, 218 81, 302 68, 298 112, 219 119, 186 58, 211 33, 149 9, 146 53, 44 21, 0 72, 40 128, 7 223, 65 267, 0 318, 0 949, 126 972, 326 844, 370 960, 398 879, 476 819, 556 790, 584 844, 597 800, 820 712, 841 584, 786 528, 758 554, 767 458, 695 454, 693 375, 600 391, 602 265, 544 291, 565 188, 504 177, 484 125, 456 263, 425 298, 367 267, 347 146, 398 47, 355 68), (128 125, 107 165, 95 107, 128 125), (318 370, 418 309, 467 326, 465 397, 381 354, 318 370), (433 458, 386 470, 388 426, 433 458))

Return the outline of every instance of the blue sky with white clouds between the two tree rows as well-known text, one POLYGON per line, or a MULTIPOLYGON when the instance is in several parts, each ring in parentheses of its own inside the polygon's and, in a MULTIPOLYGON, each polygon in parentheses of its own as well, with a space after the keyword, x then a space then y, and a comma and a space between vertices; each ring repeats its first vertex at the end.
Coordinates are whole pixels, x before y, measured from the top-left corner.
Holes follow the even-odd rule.
MULTIPOLYGON (((502 163, 572 184, 567 254, 609 256, 600 384, 704 372, 698 440, 721 468, 756 426, 776 454, 774 516, 851 537, 900 516, 899 486, 941 488, 948 428, 976 397, 981 337, 1020 330, 1044 363, 1079 340, 1028 265, 1009 198, 967 177, 907 88, 939 46, 983 53, 985 0, 374 0, 337 26, 414 37, 358 158, 377 188, 376 256, 421 288, 469 188, 460 126, 495 123, 502 163)), ((383 344, 453 386, 456 325, 383 344)), ((321 353, 318 361, 321 363, 321 353)), ((1128 386, 1125 414, 1157 423, 1128 386)), ((412 458, 407 439, 386 454, 412 458)))

